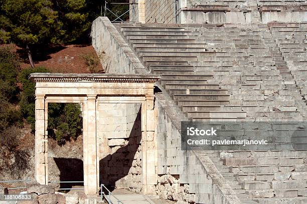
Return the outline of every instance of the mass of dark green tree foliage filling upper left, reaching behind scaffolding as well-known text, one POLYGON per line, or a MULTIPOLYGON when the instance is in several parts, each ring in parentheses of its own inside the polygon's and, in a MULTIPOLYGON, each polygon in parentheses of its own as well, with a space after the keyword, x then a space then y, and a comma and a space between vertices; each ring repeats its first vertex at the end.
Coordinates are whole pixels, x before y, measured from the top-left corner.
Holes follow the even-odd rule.
MULTIPOLYGON (((109 3, 129 3, 113 0, 109 3)), ((117 16, 129 9, 128 5, 107 4, 117 16)), ((0 0, 0 42, 19 45, 89 42, 91 22, 104 13, 104 1, 93 0, 0 0)), ((112 21, 115 16, 107 11, 112 21)), ((129 19, 127 13, 121 17, 129 19)))

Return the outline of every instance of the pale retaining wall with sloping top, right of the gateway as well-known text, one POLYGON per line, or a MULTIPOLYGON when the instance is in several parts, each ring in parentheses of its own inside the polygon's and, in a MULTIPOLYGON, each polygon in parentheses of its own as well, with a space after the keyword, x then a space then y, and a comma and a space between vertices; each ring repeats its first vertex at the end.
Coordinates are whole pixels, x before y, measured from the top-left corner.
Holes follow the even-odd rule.
POLYGON ((239 203, 208 156, 197 157, 192 150, 181 150, 179 124, 169 113, 172 107, 161 93, 156 96, 158 195, 178 203, 239 203))

